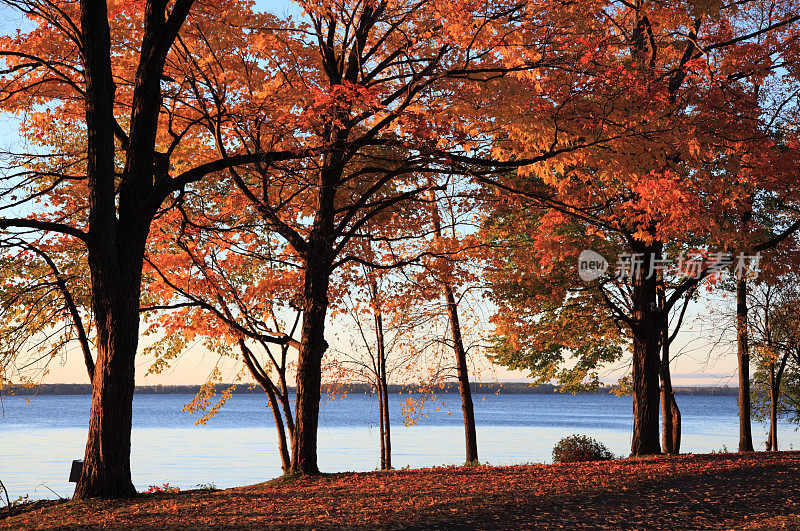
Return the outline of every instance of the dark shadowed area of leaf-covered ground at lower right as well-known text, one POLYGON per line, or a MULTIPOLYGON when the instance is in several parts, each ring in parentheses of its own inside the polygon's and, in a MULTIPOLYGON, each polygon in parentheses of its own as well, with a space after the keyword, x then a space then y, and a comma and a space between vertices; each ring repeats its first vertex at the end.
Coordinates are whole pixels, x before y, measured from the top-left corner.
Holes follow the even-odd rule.
MULTIPOLYGON (((715 456, 707 456, 714 459, 715 456)), ((730 455, 719 456, 731 459, 730 455)), ((502 511, 469 511, 425 529, 800 529, 800 464, 753 463, 734 470, 637 480, 624 488, 563 495, 542 503, 523 496, 502 511)), ((410 527, 417 528, 417 527, 410 527)), ((422 529, 421 527, 417 529, 422 529)))

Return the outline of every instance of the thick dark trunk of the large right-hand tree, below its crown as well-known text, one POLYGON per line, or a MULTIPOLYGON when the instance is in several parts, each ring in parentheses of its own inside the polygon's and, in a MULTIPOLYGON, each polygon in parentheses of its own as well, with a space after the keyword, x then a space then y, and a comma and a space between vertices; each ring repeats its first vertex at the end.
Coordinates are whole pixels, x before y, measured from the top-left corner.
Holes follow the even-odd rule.
POLYGON ((661 318, 658 280, 649 274, 650 263, 660 256, 661 244, 641 246, 642 267, 633 272, 633 437, 631 455, 661 453, 658 437, 661 369, 661 318))

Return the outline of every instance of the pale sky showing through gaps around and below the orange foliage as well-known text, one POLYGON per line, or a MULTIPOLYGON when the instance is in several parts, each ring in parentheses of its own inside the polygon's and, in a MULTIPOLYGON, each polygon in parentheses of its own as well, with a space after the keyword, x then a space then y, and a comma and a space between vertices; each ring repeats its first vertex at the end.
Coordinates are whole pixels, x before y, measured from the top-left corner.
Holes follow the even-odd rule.
MULTIPOLYGON (((296 4, 285 0, 258 1, 258 8, 272 11, 279 15, 297 17, 300 11, 296 4)), ((10 33, 24 28, 25 20, 7 7, 0 8, 0 31, 10 33)), ((11 122, 0 116, 0 144, 6 146, 18 142, 11 122)), ((577 274, 577 264, 576 264, 577 274)), ((731 319, 709 320, 700 318, 707 316, 710 310, 724 313, 722 308, 730 308, 730 300, 722 300, 709 296, 702 297, 693 304, 682 332, 673 346, 674 363, 673 383, 677 386, 695 385, 736 385, 736 357, 731 343, 717 342, 720 330, 730 332, 731 319), (712 322, 714 321, 714 322, 712 322), (711 332, 711 331, 714 332, 711 332)), ((713 313, 711 312, 711 313, 713 313)), ((328 329, 328 340, 343 330, 341 323, 332 323, 328 329)), ((730 339, 730 334, 728 339, 730 339)), ((734 336, 735 337, 735 336, 734 336)), ((147 346, 149 340, 143 338, 141 347, 147 346)), ((335 342, 332 342, 335 346, 335 342)), ((527 374, 511 371, 503 367, 491 365, 485 358, 478 356, 474 363, 477 374, 476 381, 528 381, 527 374)), ((173 365, 161 374, 146 375, 150 362, 139 356, 136 364, 137 385, 191 385, 203 383, 214 369, 218 367, 225 381, 233 381, 240 371, 239 363, 234 359, 220 359, 217 355, 196 344, 189 348, 173 365)), ((616 364, 600 372, 601 380, 614 383, 626 374, 629 368, 625 364, 616 364)), ((68 349, 51 361, 44 374, 44 383, 88 383, 82 355, 77 347, 68 349)), ((250 381, 245 378, 244 381, 250 381)))

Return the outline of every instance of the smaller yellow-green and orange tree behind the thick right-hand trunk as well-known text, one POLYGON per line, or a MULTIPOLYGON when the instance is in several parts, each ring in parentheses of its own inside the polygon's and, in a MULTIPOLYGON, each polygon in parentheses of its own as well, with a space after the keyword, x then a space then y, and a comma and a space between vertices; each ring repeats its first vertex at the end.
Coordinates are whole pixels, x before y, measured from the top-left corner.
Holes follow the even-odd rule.
MULTIPOLYGON (((592 235, 586 223, 574 218, 502 203, 487 220, 483 238, 491 249, 486 278, 497 306, 493 360, 530 371, 540 384, 555 380, 564 392, 596 390, 598 371, 623 358, 634 334, 633 272, 620 268, 632 257, 624 237, 609 232, 592 235), (576 264, 584 258, 584 249, 599 252, 595 260, 608 256, 613 263, 618 256, 618 271, 609 275, 606 263, 595 270, 597 278, 579 276, 576 264)), ((680 252, 666 251, 676 258, 680 252)), ((658 283, 657 308, 663 312, 658 338, 665 406, 662 438, 665 452, 678 453, 680 413, 669 378, 669 345, 708 266, 696 260, 695 278, 676 269, 677 264, 668 265, 664 256, 651 272, 658 283), (672 311, 665 310, 668 301, 672 311)), ((629 382, 626 375, 622 389, 629 382)))

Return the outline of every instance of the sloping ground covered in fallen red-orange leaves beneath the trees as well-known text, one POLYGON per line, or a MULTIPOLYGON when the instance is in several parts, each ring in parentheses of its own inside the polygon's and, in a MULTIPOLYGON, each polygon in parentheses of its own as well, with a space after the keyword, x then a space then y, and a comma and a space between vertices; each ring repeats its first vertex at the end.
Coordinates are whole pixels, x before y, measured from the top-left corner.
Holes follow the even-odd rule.
POLYGON ((800 529, 800 452, 326 474, 29 509, 0 529, 800 529))

